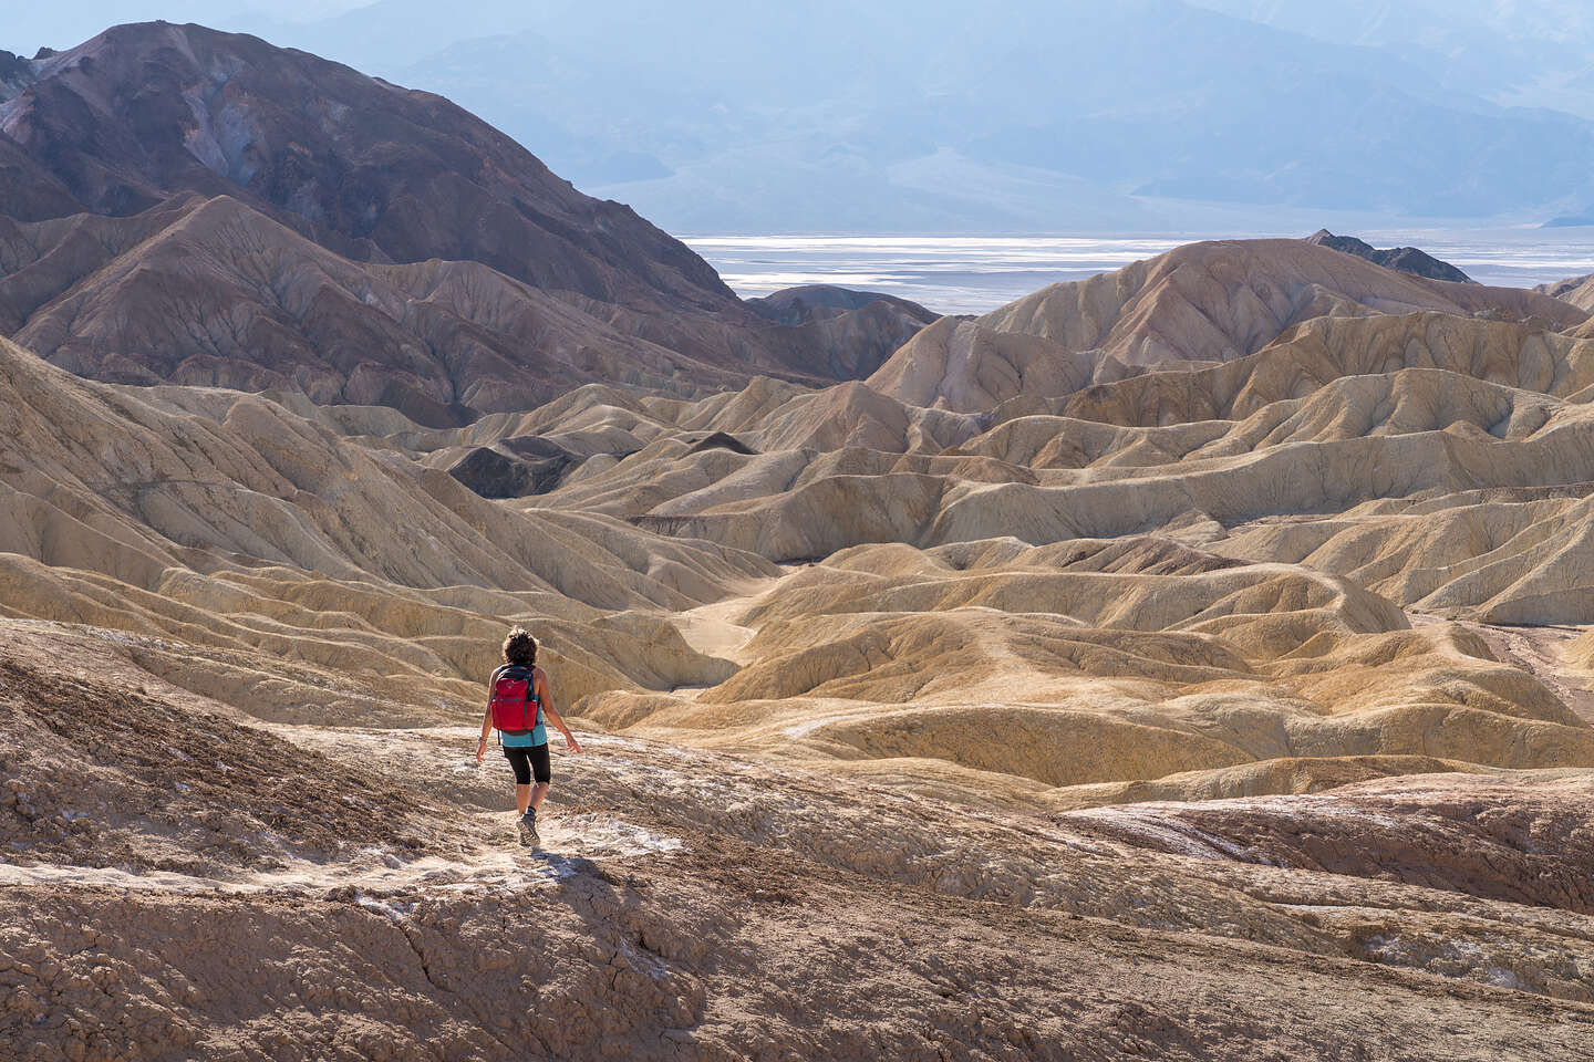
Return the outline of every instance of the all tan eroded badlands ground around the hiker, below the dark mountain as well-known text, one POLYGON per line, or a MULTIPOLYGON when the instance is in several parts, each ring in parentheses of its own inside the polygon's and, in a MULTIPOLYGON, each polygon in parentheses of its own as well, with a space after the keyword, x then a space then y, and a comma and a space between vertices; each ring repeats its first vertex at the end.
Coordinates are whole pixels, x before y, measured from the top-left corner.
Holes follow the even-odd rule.
POLYGON ((1586 322, 1196 245, 453 428, 0 342, 0 1035, 1594 1057, 1586 322), (467 758, 513 621, 590 745, 540 857, 467 758))

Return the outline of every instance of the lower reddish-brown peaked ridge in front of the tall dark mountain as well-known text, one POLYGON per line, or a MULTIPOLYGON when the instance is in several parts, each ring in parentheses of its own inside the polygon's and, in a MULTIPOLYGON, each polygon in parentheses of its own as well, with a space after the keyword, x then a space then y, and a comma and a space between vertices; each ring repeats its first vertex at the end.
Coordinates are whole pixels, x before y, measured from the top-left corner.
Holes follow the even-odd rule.
POLYGON ((0 280, 0 307, 18 342, 56 365, 112 382, 386 404, 434 427, 526 409, 593 377, 684 393, 738 387, 749 365, 826 379, 805 358, 848 346, 858 323, 826 322, 835 334, 813 339, 751 317, 617 323, 599 303, 475 261, 354 261, 231 196, 32 229, 18 240, 62 245, 0 280))

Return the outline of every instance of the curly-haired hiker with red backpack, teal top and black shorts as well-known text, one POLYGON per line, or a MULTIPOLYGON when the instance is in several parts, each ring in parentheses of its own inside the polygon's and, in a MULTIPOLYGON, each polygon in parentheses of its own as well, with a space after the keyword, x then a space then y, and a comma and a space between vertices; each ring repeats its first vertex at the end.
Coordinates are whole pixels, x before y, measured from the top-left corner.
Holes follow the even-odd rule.
POLYGON ((582 747, 571 728, 553 707, 553 691, 548 689, 548 674, 537 667, 537 638, 524 627, 515 627, 504 638, 504 666, 488 680, 488 712, 481 718, 481 740, 477 742, 477 763, 488 752, 488 732, 496 726, 504 758, 515 771, 515 812, 520 815, 520 842, 536 845, 537 809, 548 795, 553 767, 548 763, 548 728, 545 720, 564 734, 564 747, 580 752, 582 747), (532 775, 537 785, 532 785, 532 775))

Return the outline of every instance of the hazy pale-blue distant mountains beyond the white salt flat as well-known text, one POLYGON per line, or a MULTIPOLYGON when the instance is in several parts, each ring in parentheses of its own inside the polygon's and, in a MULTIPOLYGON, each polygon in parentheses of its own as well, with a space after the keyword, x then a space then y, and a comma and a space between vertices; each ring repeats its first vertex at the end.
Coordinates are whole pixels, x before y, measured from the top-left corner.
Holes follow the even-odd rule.
POLYGON ((442 92, 674 232, 1301 231, 1594 202, 1594 92, 1583 115, 1524 107, 1583 99, 1553 91, 1580 76, 1575 27, 1551 46, 1527 14, 1498 29, 1502 5, 1427 5, 1428 37, 1401 5, 1285 6, 379 0, 258 29, 442 92))

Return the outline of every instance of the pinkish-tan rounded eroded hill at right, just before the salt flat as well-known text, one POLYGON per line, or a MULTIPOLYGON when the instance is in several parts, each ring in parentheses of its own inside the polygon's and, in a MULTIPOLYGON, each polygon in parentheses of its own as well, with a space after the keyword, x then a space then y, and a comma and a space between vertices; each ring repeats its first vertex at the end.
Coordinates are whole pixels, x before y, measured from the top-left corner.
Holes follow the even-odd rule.
POLYGON ((972 322, 942 320, 869 382, 915 406, 982 412, 1012 398, 1234 361, 1313 318, 1419 312, 1535 331, 1588 318, 1543 293, 1428 280, 1304 240, 1224 240, 1054 283, 972 322))

